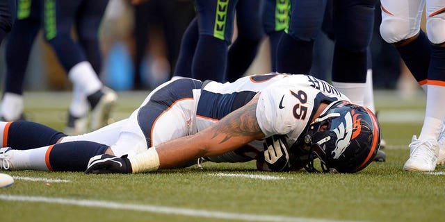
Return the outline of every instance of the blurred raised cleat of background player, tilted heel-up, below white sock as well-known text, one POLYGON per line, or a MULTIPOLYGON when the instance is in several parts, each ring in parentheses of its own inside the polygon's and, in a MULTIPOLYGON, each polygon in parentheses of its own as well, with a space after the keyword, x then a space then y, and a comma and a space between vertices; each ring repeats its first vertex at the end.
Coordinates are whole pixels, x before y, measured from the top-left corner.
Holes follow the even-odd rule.
POLYGON ((118 95, 108 87, 87 97, 91 108, 91 130, 97 130, 108 125, 110 113, 118 100, 118 95))

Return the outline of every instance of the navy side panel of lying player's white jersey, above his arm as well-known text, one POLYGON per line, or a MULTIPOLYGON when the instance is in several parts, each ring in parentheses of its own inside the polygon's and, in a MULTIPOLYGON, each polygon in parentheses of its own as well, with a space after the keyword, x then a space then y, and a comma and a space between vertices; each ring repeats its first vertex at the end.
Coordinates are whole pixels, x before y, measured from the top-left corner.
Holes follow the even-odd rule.
POLYGON ((222 119, 230 112, 252 100, 257 92, 242 91, 231 94, 220 94, 202 90, 196 114, 211 119, 222 119))

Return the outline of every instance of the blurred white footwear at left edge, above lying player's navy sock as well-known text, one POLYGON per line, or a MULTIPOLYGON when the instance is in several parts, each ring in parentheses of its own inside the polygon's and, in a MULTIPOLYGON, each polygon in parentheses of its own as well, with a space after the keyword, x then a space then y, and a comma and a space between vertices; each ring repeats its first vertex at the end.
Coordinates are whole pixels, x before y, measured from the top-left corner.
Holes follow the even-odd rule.
POLYGON ((23 96, 5 92, 1 101, 0 116, 7 121, 15 121, 23 113, 23 96))

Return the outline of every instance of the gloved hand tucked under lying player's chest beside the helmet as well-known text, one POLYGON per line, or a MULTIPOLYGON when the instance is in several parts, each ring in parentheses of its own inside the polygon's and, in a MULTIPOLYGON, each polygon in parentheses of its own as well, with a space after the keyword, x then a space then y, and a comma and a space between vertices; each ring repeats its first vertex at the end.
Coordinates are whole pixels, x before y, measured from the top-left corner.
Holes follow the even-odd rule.
POLYGON ((266 138, 264 148, 264 161, 271 171, 289 170, 289 148, 283 135, 266 138))

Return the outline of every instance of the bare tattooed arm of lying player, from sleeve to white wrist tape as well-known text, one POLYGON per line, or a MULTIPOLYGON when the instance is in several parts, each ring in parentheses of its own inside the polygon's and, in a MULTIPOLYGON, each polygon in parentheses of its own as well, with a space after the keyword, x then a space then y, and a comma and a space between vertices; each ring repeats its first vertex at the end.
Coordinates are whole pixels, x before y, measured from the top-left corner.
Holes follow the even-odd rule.
POLYGON ((258 98, 259 94, 243 107, 195 135, 156 146, 159 169, 175 167, 197 157, 221 155, 254 139, 263 138, 264 133, 261 132, 256 117, 258 98))

